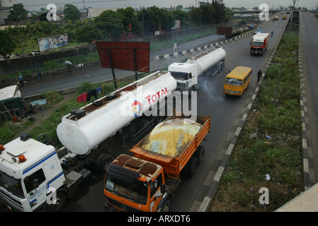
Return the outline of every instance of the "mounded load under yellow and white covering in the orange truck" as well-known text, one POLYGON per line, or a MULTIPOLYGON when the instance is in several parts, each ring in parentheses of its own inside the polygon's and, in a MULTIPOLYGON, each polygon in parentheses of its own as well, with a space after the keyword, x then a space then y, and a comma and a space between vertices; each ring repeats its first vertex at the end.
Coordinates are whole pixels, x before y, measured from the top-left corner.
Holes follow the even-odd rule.
POLYGON ((190 119, 171 119, 158 124, 142 148, 155 153, 177 157, 200 130, 201 125, 190 119))

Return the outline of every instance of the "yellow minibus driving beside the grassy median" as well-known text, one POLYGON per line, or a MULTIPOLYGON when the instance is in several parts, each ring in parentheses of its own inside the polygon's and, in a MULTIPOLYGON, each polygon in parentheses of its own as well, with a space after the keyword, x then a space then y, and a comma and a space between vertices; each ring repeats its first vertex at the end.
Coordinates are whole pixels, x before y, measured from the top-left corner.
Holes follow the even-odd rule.
POLYGON ((227 74, 223 91, 226 95, 242 95, 251 81, 251 68, 247 66, 237 66, 227 74))

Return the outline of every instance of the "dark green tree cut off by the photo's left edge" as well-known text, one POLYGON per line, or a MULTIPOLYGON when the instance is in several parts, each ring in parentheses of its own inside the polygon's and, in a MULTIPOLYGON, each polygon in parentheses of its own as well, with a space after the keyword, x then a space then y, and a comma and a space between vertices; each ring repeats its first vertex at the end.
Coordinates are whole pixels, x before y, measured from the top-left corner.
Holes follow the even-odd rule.
POLYGON ((16 35, 9 30, 0 30, 0 54, 4 59, 9 59, 17 45, 16 35))

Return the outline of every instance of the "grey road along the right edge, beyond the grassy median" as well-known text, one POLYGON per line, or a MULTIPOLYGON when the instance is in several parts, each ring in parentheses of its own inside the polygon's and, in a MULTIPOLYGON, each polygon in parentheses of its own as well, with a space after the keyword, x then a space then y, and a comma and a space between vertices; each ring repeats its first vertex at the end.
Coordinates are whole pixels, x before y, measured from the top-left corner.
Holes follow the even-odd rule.
POLYGON ((307 97, 307 112, 305 113, 308 160, 310 167, 310 182, 318 182, 318 20, 314 14, 300 12, 300 39, 302 40, 303 74, 307 97))

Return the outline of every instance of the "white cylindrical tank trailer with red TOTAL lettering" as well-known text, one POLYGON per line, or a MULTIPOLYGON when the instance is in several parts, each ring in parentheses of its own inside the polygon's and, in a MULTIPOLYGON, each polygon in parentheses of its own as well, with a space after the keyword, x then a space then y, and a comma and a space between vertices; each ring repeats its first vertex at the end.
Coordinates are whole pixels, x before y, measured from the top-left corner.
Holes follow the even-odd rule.
POLYGON ((158 112, 149 115, 149 109, 174 90, 176 80, 171 73, 152 73, 62 117, 57 126, 59 141, 72 153, 86 155, 116 132, 122 133, 123 139, 136 138, 156 123, 158 112), (145 117, 147 123, 140 120, 134 124, 140 117, 145 117))

